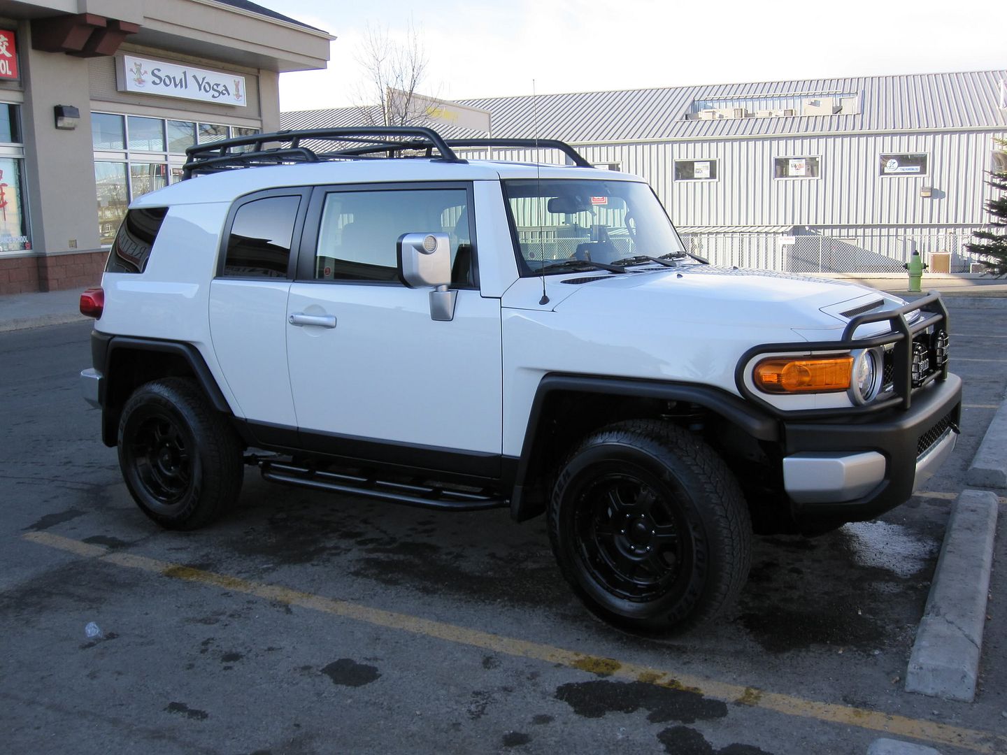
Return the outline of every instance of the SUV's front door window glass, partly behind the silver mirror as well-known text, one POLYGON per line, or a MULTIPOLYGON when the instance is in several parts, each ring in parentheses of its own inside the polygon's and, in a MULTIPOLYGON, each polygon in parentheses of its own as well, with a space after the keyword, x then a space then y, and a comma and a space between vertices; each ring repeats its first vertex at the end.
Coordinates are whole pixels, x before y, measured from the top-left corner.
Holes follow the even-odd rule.
POLYGON ((315 280, 398 281, 403 234, 451 239, 452 283, 474 285, 465 189, 332 191, 325 196, 315 250, 315 280))

